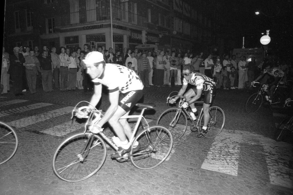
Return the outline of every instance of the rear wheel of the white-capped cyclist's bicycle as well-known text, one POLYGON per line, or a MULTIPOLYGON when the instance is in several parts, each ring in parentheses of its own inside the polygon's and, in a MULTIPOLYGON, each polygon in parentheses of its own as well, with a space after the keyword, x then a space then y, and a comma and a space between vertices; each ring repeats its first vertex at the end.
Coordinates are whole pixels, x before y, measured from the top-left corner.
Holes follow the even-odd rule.
POLYGON ((134 139, 130 161, 139 169, 154 168, 166 160, 172 146, 173 139, 168 129, 161 126, 149 127, 134 139), (138 146, 134 146, 136 141, 138 146))

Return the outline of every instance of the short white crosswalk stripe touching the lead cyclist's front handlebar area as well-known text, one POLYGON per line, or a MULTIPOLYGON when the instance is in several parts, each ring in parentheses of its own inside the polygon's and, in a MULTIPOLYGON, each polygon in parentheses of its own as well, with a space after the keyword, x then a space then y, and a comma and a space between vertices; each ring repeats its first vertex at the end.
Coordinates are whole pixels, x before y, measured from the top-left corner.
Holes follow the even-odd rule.
POLYGON ((40 132, 60 137, 68 133, 74 132, 81 127, 84 127, 84 125, 84 123, 81 124, 76 121, 72 123, 72 121, 68 121, 62 123, 61 125, 57 125, 52 128, 42 130, 40 132))

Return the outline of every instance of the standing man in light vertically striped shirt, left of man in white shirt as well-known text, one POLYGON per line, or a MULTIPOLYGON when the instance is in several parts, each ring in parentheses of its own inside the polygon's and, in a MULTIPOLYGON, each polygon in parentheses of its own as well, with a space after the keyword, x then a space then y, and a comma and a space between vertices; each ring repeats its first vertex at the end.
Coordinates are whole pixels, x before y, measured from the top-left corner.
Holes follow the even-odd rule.
POLYGON ((60 59, 60 91, 67 90, 69 56, 65 53, 65 47, 61 47, 60 59))

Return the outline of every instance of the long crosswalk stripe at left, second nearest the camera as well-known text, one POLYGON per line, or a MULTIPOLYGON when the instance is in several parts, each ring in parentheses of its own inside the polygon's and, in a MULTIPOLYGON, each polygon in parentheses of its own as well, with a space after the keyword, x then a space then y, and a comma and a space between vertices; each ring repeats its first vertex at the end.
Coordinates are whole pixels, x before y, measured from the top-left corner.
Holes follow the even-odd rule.
POLYGON ((29 117, 21 118, 19 120, 14 120, 14 121, 8 122, 8 125, 11 125, 11 126, 17 127, 17 128, 26 127, 28 125, 33 125, 37 122, 42 122, 42 121, 48 120, 53 117, 57 117, 60 115, 70 113, 73 110, 73 108, 74 108, 73 106, 67 106, 67 107, 52 110, 49 112, 45 112, 45 113, 41 113, 41 114, 37 114, 37 115, 32 115, 29 117))

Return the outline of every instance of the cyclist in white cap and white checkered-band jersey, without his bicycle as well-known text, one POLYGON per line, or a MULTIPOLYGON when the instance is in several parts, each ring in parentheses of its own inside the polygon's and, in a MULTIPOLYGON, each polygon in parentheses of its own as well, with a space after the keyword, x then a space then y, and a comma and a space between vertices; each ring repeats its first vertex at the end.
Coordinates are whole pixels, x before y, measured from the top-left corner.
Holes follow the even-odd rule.
MULTIPOLYGON (((96 106, 100 101, 102 84, 109 89, 110 107, 101 120, 94 125, 91 132, 101 132, 102 126, 109 122, 121 141, 119 141, 121 143, 119 151, 112 156, 119 158, 129 152, 130 144, 127 138, 130 139, 132 134, 127 119, 120 119, 120 117, 129 115, 130 109, 143 96, 142 89, 144 86, 133 70, 118 64, 106 64, 103 54, 98 51, 88 53, 83 61, 86 64, 87 73, 94 83, 91 105, 96 106)), ((91 105, 89 105, 90 108, 91 105)))

